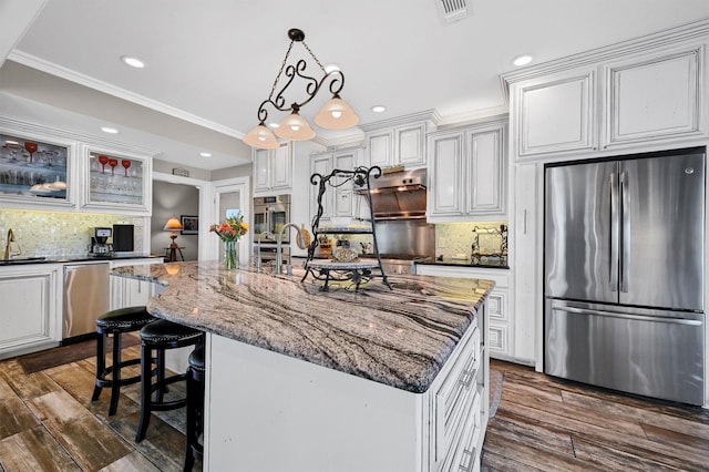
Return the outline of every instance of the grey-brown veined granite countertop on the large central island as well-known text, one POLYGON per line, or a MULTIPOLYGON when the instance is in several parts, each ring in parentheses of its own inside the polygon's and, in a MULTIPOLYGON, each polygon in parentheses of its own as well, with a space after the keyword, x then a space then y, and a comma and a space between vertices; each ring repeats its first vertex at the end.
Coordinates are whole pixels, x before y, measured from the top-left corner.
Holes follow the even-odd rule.
POLYGON ((490 280, 389 276, 328 293, 294 275, 224 270, 216 261, 113 269, 166 286, 160 318, 411 392, 424 392, 475 319, 490 280), (171 275, 173 274, 173 275, 171 275))

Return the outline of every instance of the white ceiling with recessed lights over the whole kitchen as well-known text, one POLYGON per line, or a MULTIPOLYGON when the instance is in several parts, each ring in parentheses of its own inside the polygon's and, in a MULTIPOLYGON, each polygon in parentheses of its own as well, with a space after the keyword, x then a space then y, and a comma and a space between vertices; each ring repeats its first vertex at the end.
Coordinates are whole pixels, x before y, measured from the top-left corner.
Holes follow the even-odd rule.
MULTIPOLYGON (((449 23, 438 2, 4 0, 0 113, 99 137, 113 125, 111 140, 217 170, 250 162, 240 137, 257 124, 290 28, 341 68, 361 124, 433 110, 453 123, 506 111, 500 75, 520 54, 534 65, 709 18, 707 0, 467 0, 469 14, 449 23), (387 111, 371 112, 378 104, 387 111)), ((320 95, 301 111, 311 123, 320 95)), ((323 144, 361 138, 315 130, 323 144)))

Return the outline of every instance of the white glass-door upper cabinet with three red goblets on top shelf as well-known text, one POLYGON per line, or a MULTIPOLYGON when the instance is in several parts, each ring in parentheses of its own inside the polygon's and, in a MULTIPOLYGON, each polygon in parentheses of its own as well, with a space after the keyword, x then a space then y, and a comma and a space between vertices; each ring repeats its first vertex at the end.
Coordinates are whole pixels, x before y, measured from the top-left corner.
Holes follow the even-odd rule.
POLYGON ((86 146, 82 207, 96 212, 150 214, 152 157, 86 146))

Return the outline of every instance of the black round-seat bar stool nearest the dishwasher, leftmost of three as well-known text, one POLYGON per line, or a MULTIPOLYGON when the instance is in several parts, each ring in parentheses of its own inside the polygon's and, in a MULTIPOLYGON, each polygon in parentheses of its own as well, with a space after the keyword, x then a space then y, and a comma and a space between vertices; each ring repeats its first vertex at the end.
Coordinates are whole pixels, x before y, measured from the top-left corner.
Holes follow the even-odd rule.
POLYGON ((141 381, 141 376, 123 379, 121 370, 124 367, 141 363, 141 359, 121 359, 123 348, 123 334, 137 331, 145 325, 154 321, 145 307, 129 307, 109 311, 96 319, 96 386, 93 389, 91 401, 99 400, 104 388, 111 389, 111 407, 109 415, 115 414, 121 397, 121 387, 141 381), (113 335, 113 365, 106 367, 106 340, 113 335), (110 378, 109 378, 110 377, 110 378))

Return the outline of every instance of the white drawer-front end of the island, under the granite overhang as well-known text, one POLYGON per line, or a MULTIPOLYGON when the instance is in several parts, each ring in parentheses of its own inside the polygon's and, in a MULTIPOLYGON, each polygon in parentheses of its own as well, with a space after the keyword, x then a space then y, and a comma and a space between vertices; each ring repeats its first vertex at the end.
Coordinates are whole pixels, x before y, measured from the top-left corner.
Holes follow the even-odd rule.
POLYGON ((456 453, 477 388, 480 370, 480 330, 467 339, 441 388, 435 392, 435 462, 439 470, 448 470, 456 453))

